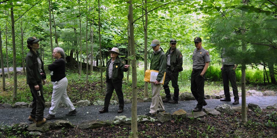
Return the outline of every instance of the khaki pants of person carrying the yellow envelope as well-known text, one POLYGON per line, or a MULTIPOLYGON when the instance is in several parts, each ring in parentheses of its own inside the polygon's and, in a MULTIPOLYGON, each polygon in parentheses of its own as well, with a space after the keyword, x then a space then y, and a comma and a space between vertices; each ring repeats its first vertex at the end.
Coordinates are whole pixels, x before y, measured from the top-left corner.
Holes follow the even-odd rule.
POLYGON ((160 95, 161 84, 155 85, 151 83, 152 88, 152 102, 149 113, 157 114, 157 111, 164 111, 164 104, 162 103, 162 97, 160 95))

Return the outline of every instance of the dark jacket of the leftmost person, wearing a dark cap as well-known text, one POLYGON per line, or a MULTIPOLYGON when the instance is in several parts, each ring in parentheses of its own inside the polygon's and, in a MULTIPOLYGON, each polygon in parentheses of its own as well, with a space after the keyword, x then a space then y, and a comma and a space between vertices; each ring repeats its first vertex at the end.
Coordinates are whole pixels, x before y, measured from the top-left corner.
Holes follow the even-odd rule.
POLYGON ((27 84, 38 85, 42 82, 42 79, 46 79, 46 74, 43 68, 43 62, 41 61, 41 69, 44 75, 40 75, 39 65, 37 58, 40 58, 38 51, 35 53, 33 50, 30 50, 25 58, 26 62, 26 74, 27 74, 27 84))

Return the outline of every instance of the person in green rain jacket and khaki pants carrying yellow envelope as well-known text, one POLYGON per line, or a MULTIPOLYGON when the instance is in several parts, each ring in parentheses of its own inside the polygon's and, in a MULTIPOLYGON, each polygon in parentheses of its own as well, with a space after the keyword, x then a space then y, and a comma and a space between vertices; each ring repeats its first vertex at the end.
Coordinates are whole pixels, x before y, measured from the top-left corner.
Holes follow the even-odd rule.
POLYGON ((156 116, 159 112, 165 112, 164 105, 162 103, 162 98, 160 95, 161 83, 160 81, 164 77, 164 72, 166 68, 166 55, 160 47, 160 41, 154 39, 150 45, 153 49, 150 60, 150 70, 157 70, 158 76, 155 82, 151 82, 152 89, 152 101, 150 105, 149 113, 145 114, 146 116, 156 116))

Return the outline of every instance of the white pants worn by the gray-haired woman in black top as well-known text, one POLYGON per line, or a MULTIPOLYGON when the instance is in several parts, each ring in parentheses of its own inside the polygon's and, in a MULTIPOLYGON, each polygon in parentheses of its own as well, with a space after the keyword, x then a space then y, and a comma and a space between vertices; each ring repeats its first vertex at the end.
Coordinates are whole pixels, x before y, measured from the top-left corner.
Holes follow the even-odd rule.
POLYGON ((51 99, 51 108, 49 109, 49 114, 55 115, 59 107, 60 101, 63 101, 69 108, 69 112, 75 110, 72 102, 67 96, 66 87, 68 85, 68 80, 66 77, 60 81, 53 82, 53 93, 51 99))

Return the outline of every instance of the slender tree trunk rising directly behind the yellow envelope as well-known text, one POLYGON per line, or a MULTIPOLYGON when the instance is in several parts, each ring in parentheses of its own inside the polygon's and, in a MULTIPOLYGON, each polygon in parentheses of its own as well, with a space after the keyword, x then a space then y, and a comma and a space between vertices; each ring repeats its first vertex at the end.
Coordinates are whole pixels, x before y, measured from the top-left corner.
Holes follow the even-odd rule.
MULTIPOLYGON (((145 0, 147 3, 147 0, 145 0)), ((148 14, 147 7, 143 9, 145 11, 145 25, 144 25, 144 72, 147 70, 147 26, 148 26, 148 14)), ((144 98, 148 98, 148 83, 144 82, 144 98)))

